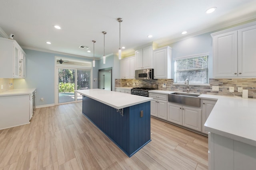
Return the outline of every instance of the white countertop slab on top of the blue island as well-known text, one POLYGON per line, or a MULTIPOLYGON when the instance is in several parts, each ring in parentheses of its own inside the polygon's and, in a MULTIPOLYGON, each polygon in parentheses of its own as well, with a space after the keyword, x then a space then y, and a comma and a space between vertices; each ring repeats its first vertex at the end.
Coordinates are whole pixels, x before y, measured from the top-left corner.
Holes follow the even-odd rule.
POLYGON ((116 109, 122 109, 124 107, 129 107, 153 100, 153 98, 148 98, 144 96, 137 96, 133 94, 126 94, 102 89, 87 89, 75 91, 116 109))

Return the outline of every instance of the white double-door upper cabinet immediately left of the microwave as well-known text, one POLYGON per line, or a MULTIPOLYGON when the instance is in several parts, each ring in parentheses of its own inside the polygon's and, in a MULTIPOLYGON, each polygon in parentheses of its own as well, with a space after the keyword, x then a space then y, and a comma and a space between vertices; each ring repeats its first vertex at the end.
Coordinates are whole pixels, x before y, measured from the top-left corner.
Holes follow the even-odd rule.
POLYGON ((135 78, 134 61, 134 56, 121 60, 121 78, 135 78))

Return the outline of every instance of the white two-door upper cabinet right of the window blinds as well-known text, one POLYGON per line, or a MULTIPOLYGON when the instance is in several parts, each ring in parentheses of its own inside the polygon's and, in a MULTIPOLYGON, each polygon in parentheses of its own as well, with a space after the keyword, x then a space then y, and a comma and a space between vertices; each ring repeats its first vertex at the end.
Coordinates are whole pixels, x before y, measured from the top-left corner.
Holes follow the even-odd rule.
POLYGON ((215 78, 256 76, 256 22, 211 35, 215 78))

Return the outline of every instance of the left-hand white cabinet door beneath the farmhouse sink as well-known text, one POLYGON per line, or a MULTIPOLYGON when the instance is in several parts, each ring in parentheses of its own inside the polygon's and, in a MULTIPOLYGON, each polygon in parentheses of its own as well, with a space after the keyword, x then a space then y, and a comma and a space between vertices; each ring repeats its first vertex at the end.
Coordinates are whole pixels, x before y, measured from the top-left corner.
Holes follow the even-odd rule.
POLYGON ((168 121, 182 125, 182 106, 168 103, 168 121))

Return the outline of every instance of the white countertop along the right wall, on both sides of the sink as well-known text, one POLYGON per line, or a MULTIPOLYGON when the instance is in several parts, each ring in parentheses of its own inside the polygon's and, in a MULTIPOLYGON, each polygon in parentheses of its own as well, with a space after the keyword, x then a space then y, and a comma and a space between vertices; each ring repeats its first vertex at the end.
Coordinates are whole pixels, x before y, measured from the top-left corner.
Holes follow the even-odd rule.
MULTIPOLYGON (((174 91, 150 90, 170 94, 174 91)), ((204 124, 205 130, 256 146, 256 99, 201 94, 201 99, 217 100, 204 124)))

